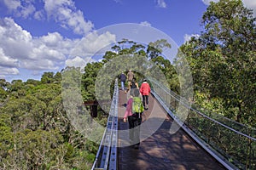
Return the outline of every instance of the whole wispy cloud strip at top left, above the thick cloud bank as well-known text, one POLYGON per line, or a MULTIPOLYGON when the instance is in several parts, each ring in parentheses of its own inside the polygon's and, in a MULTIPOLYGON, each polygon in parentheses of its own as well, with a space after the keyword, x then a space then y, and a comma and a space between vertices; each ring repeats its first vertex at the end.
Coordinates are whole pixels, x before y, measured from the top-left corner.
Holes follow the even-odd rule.
POLYGON ((44 20, 47 15, 75 34, 85 35, 94 27, 90 20, 84 20, 83 12, 76 9, 73 0, 43 0, 44 8, 41 9, 35 8, 34 0, 3 0, 3 3, 17 17, 26 19, 32 16, 36 20, 44 20))

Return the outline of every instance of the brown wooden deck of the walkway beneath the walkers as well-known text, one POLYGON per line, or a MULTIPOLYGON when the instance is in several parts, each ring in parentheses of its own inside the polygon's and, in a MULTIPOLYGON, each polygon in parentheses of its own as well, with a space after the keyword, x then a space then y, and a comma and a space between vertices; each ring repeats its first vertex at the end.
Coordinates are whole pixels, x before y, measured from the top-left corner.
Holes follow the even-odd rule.
MULTIPOLYGON (((119 91, 119 117, 125 114, 127 94, 119 91)), ((166 116, 154 97, 149 96, 149 109, 144 112, 141 141, 138 150, 129 145, 128 123, 119 119, 119 170, 150 169, 225 169, 207 151, 196 144, 181 128, 169 133, 172 119, 166 116)))

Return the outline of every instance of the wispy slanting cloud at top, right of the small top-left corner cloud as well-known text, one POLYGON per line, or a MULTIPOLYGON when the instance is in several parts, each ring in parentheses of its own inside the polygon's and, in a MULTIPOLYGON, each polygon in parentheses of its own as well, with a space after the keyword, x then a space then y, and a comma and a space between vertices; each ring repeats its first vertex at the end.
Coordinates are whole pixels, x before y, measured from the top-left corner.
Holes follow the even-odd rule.
POLYGON ((93 29, 92 22, 84 20, 83 12, 75 8, 72 0, 44 0, 44 9, 49 18, 76 34, 85 35, 93 29))

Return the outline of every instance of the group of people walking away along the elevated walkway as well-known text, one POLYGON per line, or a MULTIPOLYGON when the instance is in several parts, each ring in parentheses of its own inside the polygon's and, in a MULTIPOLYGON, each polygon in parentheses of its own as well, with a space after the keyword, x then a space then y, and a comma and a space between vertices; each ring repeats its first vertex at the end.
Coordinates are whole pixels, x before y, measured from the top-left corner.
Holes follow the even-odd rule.
POLYGON ((128 88, 125 90, 125 73, 119 76, 121 82, 121 89, 125 90, 125 94, 130 92, 130 99, 127 101, 124 122, 129 123, 130 143, 138 149, 140 145, 140 125, 142 123, 142 114, 144 110, 148 110, 148 95, 150 94, 150 86, 147 79, 143 78, 143 83, 139 88, 134 73, 130 70, 127 73, 128 88), (141 94, 141 95, 140 95, 141 94), (141 97, 142 96, 142 99, 141 97))

